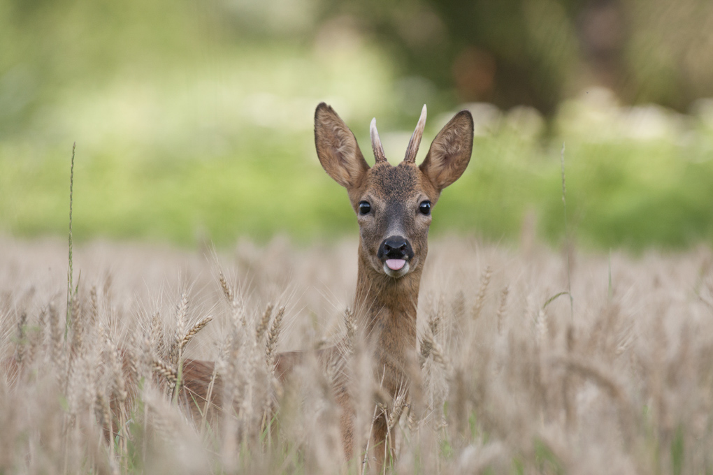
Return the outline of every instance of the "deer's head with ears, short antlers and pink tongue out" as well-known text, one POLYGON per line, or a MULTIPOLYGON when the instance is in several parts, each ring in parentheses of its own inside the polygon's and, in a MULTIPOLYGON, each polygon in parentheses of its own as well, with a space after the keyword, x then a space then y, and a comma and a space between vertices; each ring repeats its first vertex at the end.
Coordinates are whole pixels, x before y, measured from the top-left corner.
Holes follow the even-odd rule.
POLYGON ((441 190, 458 179, 473 150, 473 118, 463 110, 438 132, 426 160, 416 152, 426 124, 426 106, 411 136, 404 161, 392 167, 384 157, 376 121, 371 145, 376 163, 369 167, 349 127, 328 105, 314 115, 317 155, 325 171, 347 188, 359 222, 359 255, 377 273, 400 278, 420 269, 428 253, 431 209, 441 190))

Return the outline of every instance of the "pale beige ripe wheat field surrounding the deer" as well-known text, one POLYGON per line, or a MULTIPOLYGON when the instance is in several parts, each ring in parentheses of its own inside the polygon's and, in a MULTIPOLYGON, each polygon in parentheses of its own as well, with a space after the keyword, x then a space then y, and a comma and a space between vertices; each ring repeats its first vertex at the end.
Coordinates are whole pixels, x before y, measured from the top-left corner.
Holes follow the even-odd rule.
MULTIPOLYGON (((69 306, 66 242, 4 237, 0 249, 1 474, 374 471, 363 452, 342 460, 319 365, 289 387, 266 365, 347 332, 355 240, 86 243, 69 306), (188 416, 172 396, 183 357, 218 362, 235 410, 188 416)), ((532 239, 431 241, 417 384, 383 409, 396 436, 386 471, 711 473, 712 267, 707 247, 567 255, 532 239)), ((355 374, 366 359, 355 353, 355 374)))

